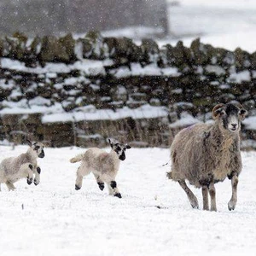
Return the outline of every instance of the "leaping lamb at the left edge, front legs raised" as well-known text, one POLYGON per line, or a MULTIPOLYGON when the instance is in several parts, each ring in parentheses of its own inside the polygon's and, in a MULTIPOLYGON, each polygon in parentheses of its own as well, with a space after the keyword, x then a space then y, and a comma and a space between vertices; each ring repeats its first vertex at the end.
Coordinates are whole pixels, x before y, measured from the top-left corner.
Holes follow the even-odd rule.
POLYGON ((32 143, 29 140, 27 143, 29 148, 26 153, 17 157, 6 158, 0 163, 0 185, 5 183, 9 191, 15 190, 14 183, 23 177, 26 178, 29 185, 32 182, 36 186, 40 183, 41 168, 38 166, 37 158, 44 158, 44 145, 32 143), (33 174, 35 174, 34 180, 33 174))

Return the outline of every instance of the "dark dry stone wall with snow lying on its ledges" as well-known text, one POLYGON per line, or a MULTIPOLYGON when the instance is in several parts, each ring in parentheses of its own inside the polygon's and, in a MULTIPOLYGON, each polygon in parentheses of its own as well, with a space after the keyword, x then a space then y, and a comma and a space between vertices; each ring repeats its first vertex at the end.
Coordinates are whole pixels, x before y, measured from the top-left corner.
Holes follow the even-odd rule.
POLYGON ((130 38, 0 38, 0 138, 50 146, 168 146, 178 130, 209 121, 218 102, 249 112, 244 148, 256 148, 256 53, 130 38))

